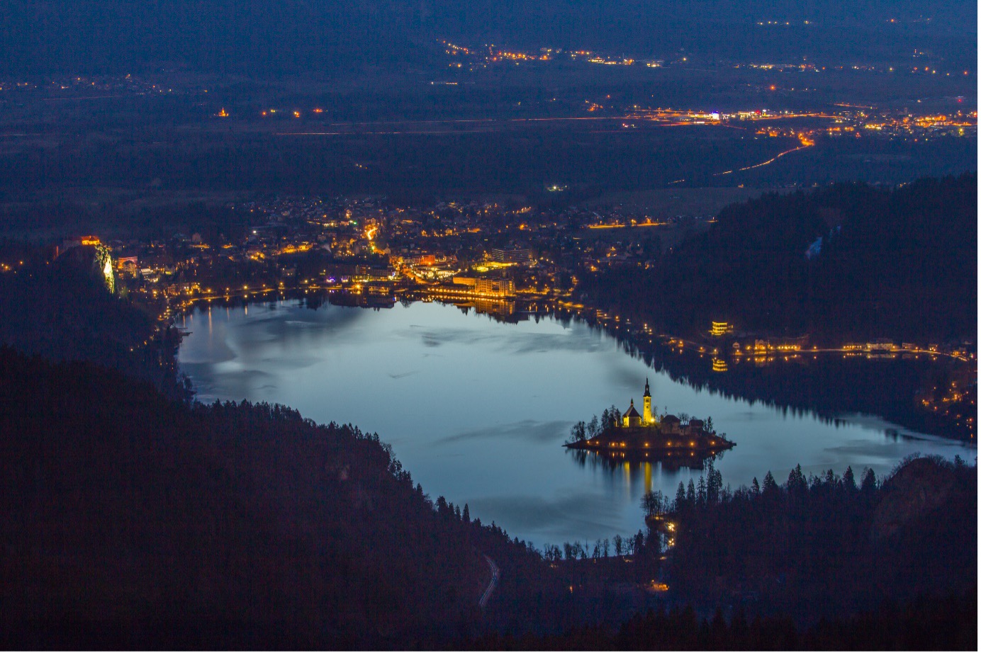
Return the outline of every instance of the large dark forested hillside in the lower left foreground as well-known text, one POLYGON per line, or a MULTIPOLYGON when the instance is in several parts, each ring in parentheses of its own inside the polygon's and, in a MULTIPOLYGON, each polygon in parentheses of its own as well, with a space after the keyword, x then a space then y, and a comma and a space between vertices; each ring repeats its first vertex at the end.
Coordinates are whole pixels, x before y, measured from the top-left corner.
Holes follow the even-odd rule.
POLYGON ((431 647, 525 549, 376 436, 0 348, 0 646, 431 647))

